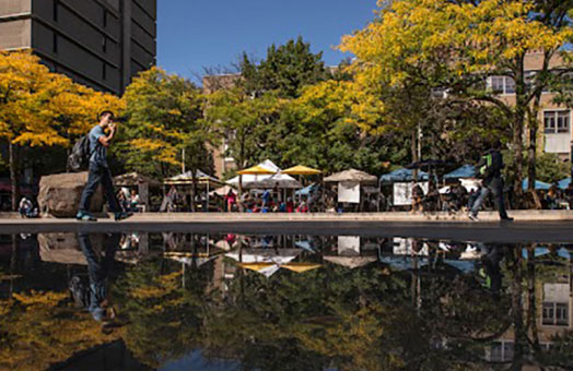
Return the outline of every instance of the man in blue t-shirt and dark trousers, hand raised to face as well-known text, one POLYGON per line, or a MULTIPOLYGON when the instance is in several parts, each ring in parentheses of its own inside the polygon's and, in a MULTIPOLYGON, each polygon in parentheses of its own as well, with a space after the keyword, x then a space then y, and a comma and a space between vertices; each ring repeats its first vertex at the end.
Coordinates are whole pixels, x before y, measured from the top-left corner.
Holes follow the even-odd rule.
POLYGON ((129 217, 129 214, 124 213, 117 202, 114 183, 112 181, 112 172, 107 165, 107 148, 112 144, 115 133, 114 113, 108 110, 103 111, 100 113, 100 123, 87 134, 90 140, 90 176, 82 193, 80 210, 75 216, 79 220, 96 220, 96 218, 90 214, 90 202, 100 183, 102 183, 104 188, 107 203, 114 213, 115 219, 121 220, 129 217), (106 129, 109 130, 108 134, 105 133, 106 129))

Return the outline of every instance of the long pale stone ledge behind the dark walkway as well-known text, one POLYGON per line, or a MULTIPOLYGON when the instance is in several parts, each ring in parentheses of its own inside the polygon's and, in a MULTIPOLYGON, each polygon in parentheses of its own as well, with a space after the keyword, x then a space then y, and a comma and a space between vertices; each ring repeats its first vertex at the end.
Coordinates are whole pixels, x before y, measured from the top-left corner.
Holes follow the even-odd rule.
MULTIPOLYGON (((510 211, 515 222, 573 222, 573 211, 510 211)), ((480 222, 499 222, 496 212, 481 212, 480 222)), ((74 219, 22 219, 17 213, 0 213, 0 225, 37 225, 70 223, 74 219)), ((108 220, 102 219, 101 222, 108 220)), ((249 213, 144 213, 136 214, 129 222, 141 224, 172 224, 172 223, 284 223, 284 222, 400 222, 400 223, 470 223, 465 213, 451 215, 448 213, 410 214, 393 213, 317 213, 317 214, 249 214, 249 213)), ((475 222, 471 222, 475 223, 475 222)))

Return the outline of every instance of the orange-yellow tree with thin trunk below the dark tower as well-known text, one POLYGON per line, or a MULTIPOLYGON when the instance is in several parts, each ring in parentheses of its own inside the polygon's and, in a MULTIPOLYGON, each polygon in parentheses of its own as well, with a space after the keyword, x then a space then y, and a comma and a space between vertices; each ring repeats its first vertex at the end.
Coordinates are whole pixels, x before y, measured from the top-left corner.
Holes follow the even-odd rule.
POLYGON ((0 52, 0 140, 9 147, 12 208, 16 208, 23 147, 70 147, 121 100, 52 73, 28 51, 0 52))

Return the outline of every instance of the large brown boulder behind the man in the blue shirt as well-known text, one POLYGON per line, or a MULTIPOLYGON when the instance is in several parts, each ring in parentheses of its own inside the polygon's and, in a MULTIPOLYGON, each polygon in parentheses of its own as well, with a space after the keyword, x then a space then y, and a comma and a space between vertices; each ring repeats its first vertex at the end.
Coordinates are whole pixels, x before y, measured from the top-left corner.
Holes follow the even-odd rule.
MULTIPOLYGON (((57 173, 42 177, 38 194, 38 205, 42 215, 74 217, 78 213, 86 182, 87 172, 57 173)), ((101 212, 103 204, 102 187, 98 187, 92 198, 91 212, 101 212)))

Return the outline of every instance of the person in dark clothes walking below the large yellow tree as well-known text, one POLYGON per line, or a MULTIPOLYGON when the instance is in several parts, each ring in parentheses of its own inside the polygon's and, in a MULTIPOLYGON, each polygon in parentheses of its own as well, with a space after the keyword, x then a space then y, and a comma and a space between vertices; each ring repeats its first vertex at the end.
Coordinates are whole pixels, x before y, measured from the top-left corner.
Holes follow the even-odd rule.
POLYGON ((481 157, 481 160, 478 164, 478 170, 482 178, 482 187, 478 199, 473 202, 471 211, 469 212, 469 218, 473 222, 479 220, 479 210, 490 192, 493 194, 493 203, 500 213, 500 218, 505 222, 513 220, 513 218, 507 216, 503 201, 503 179, 501 176, 503 169, 503 156, 500 153, 500 141, 495 141, 492 148, 481 157))

